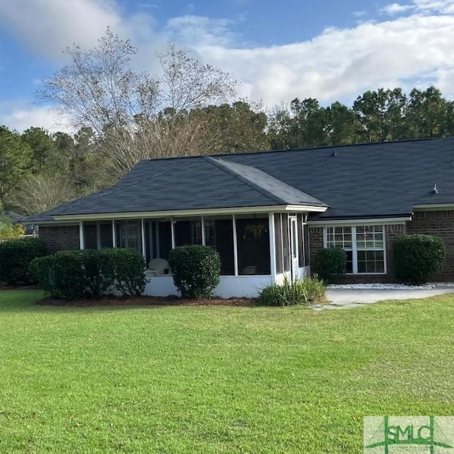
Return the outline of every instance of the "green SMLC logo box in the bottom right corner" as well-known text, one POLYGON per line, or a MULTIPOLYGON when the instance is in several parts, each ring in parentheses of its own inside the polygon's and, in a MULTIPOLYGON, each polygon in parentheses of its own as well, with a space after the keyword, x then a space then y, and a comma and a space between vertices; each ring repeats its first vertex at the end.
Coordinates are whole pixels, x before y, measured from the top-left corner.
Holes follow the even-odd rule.
POLYGON ((454 418, 448 416, 365 416, 367 454, 454 454, 454 418))

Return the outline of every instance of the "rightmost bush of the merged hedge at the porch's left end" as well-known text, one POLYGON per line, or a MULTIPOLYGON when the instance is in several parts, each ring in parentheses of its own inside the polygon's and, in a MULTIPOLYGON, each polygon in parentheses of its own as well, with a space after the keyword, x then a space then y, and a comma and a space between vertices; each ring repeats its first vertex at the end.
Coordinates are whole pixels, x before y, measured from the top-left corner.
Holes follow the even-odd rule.
POLYGON ((140 297, 145 290, 146 263, 143 255, 133 249, 103 249, 106 267, 114 286, 122 296, 140 297))

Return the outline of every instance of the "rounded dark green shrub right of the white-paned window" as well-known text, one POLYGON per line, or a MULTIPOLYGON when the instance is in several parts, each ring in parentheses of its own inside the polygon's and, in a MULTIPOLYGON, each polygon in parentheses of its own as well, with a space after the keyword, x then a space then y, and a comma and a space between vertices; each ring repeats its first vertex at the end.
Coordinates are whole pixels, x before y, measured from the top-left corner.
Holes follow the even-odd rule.
POLYGON ((394 241, 396 277, 406 284, 424 284, 443 271, 445 256, 445 243, 438 236, 399 236, 394 241))

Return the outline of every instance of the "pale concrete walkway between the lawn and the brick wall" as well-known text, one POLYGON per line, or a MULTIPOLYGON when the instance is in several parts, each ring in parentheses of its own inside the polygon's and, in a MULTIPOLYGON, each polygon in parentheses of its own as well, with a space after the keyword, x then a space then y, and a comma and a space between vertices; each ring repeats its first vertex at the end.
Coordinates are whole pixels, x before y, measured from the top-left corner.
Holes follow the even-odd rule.
POLYGON ((433 297, 445 293, 454 293, 453 287, 435 287, 433 289, 328 289, 326 299, 329 304, 317 304, 314 310, 346 309, 364 304, 372 304, 384 299, 416 299, 433 297))

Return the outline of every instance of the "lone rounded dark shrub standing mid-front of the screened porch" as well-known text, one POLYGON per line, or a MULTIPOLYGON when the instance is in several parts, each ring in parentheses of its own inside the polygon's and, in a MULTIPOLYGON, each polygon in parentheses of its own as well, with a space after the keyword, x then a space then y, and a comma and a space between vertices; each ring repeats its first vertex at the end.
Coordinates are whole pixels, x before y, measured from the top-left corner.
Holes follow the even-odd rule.
POLYGON ((181 246, 170 251, 173 281, 184 298, 211 297, 221 275, 221 259, 209 246, 181 246))

